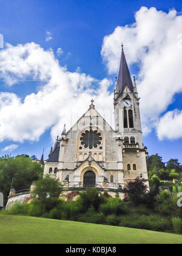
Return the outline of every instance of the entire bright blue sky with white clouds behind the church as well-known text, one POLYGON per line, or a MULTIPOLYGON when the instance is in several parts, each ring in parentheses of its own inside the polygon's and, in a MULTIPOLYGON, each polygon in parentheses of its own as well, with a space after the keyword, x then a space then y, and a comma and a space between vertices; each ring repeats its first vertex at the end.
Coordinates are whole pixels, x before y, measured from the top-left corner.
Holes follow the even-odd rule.
POLYGON ((175 1, 0 0, 0 155, 47 158, 90 100, 113 127, 121 42, 144 145, 182 163, 182 7, 175 1))

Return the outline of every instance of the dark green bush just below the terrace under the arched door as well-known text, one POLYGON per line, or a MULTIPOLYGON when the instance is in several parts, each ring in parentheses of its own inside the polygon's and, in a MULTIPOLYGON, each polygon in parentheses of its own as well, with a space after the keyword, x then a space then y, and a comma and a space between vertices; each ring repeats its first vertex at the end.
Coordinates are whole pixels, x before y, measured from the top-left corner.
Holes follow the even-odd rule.
POLYGON ((87 212, 87 210, 93 206, 95 210, 98 210, 99 205, 103 204, 106 201, 105 197, 102 194, 99 194, 96 188, 87 189, 80 193, 78 203, 82 213, 87 212))

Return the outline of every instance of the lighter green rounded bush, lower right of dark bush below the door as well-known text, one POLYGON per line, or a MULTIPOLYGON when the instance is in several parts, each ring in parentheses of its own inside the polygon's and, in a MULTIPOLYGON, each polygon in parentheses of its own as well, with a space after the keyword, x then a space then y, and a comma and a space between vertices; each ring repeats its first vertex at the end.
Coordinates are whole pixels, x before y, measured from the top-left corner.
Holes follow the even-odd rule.
POLYGON ((127 212, 126 205, 120 198, 109 198, 105 204, 101 204, 100 211, 104 215, 121 215, 127 212))

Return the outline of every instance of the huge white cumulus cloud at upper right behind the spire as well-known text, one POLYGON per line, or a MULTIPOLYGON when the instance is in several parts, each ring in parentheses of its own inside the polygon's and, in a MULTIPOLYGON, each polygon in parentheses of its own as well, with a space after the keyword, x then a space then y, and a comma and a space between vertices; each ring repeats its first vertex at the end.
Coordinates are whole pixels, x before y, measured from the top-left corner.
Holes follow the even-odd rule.
MULTIPOLYGON (((101 55, 110 74, 118 72, 122 41, 127 62, 140 69, 137 84, 146 132, 157 126, 174 94, 182 91, 181 32, 182 15, 177 15, 176 10, 165 13, 154 7, 141 7, 135 14, 135 23, 118 26, 104 37, 101 55)), ((181 137, 180 128, 177 134, 181 137)), ((170 138, 166 134, 164 137, 170 138)), ((161 133, 160 138, 163 138, 161 133)))

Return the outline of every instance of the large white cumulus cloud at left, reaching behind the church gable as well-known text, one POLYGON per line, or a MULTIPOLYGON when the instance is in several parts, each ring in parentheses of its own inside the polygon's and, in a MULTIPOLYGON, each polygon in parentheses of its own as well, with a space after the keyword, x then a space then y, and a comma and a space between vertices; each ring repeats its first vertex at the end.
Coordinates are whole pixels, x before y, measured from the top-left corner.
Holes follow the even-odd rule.
POLYGON ((67 71, 52 50, 44 51, 35 43, 8 44, 0 51, 0 77, 9 86, 27 77, 42 82, 38 93, 27 95, 24 101, 16 94, 0 93, 0 141, 38 141, 50 128, 54 140, 64 123, 69 129, 83 115, 92 98, 102 102, 96 107, 112 108, 113 96, 107 90, 112 82, 104 79, 94 86, 93 77, 67 71))

